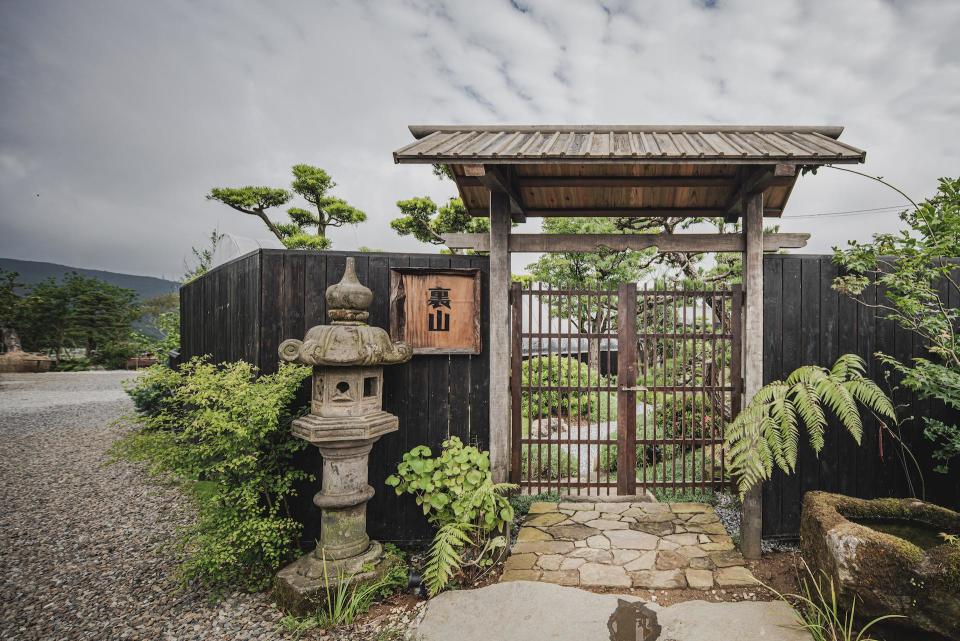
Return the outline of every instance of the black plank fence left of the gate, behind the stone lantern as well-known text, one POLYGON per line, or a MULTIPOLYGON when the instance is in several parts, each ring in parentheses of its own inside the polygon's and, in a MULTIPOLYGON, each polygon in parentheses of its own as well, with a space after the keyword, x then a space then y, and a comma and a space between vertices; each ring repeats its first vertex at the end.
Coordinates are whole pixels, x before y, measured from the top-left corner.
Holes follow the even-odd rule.
MULTIPOLYGON (((477 267, 482 273, 481 336, 488 335, 488 261, 480 256, 259 250, 211 270, 180 290, 181 358, 208 354, 214 361, 243 359, 265 373, 276 371, 277 347, 303 338, 309 327, 328 322, 324 293, 343 276, 346 258, 373 290, 370 323, 389 327, 390 268, 477 267)), ((403 453, 416 445, 437 448, 448 436, 486 449, 489 442, 489 358, 418 355, 384 368, 383 405, 400 418, 400 430, 384 436, 370 459, 370 484, 377 494, 368 506, 368 529, 382 541, 429 538, 423 512, 408 497, 384 485, 403 453)), ((301 390, 309 398, 309 386, 301 390)), ((319 476, 315 448, 300 461, 319 476)), ((319 481, 301 488, 298 516, 306 522, 304 543, 312 547, 319 514, 311 499, 319 481)))

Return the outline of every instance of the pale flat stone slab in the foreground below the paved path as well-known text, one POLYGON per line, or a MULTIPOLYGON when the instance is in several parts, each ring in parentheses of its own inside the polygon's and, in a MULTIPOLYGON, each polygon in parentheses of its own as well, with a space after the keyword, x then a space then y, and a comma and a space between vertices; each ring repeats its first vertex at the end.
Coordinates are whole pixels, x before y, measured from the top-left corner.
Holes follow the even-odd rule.
MULTIPOLYGON (((419 641, 610 641, 607 622, 620 600, 550 583, 513 581, 477 590, 444 592, 432 599, 416 625, 419 641)), ((784 603, 687 601, 655 603, 663 628, 659 641, 810 641, 784 603)))

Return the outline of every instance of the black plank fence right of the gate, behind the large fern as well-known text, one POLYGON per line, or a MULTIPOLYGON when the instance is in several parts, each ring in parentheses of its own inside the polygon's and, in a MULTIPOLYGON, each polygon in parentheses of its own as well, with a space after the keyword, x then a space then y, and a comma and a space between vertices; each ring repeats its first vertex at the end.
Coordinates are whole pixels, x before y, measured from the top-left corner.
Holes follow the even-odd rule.
MULTIPOLYGON (((908 361, 924 355, 922 341, 901 329, 882 312, 861 305, 831 289, 839 274, 830 256, 773 255, 764 260, 764 381, 782 379, 792 370, 807 364, 830 366, 840 354, 859 354, 867 362, 868 375, 881 386, 884 368, 873 356, 884 352, 908 361)), ((960 296, 948 291, 941 296, 952 307, 960 306, 960 296)), ((883 292, 871 286, 864 293, 869 303, 883 302, 883 292)), ((895 383, 895 381, 892 381, 895 383)), ((913 400, 907 390, 899 389, 894 401, 906 404, 901 416, 913 416, 903 425, 903 438, 920 461, 926 480, 926 498, 948 507, 960 507, 960 473, 949 475, 931 471, 932 445, 923 438, 920 417, 941 419, 949 411, 933 402, 913 400)), ((953 417, 956 421, 957 417, 953 417)), ((910 496, 904 462, 896 442, 881 437, 876 421, 864 422, 863 442, 856 442, 836 422, 827 431, 826 445, 817 458, 802 435, 797 471, 792 476, 776 473, 763 492, 763 535, 793 537, 800 529, 801 496, 807 490, 842 492, 851 496, 875 498, 910 496)), ((907 461, 912 468, 912 463, 907 461)), ((920 491, 916 470, 911 479, 920 491)))

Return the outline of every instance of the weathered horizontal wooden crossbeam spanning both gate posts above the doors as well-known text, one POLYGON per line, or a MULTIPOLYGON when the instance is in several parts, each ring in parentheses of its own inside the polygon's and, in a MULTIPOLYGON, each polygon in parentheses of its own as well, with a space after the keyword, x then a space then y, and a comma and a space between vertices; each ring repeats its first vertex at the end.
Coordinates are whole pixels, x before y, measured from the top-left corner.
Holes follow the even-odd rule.
MULTIPOLYGON (((805 247, 810 234, 764 234, 764 251, 805 247)), ((445 234, 443 241, 450 249, 489 251, 489 234, 445 234)), ((745 248, 743 234, 511 234, 511 252, 574 253, 641 251, 656 247, 661 252, 699 254, 703 252, 738 252, 745 248)))

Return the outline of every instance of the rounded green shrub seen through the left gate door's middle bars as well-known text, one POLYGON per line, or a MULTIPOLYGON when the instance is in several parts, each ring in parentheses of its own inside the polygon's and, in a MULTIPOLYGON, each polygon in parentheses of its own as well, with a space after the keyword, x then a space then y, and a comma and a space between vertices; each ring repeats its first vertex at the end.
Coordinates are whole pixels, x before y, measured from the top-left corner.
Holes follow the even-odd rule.
POLYGON ((611 378, 591 370, 586 363, 567 356, 535 356, 520 366, 521 411, 524 416, 584 416, 593 421, 607 421, 617 416, 617 394, 606 391, 539 390, 543 387, 612 385, 611 378), (577 372, 579 371, 579 378, 577 372))

